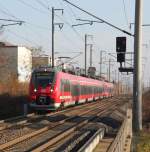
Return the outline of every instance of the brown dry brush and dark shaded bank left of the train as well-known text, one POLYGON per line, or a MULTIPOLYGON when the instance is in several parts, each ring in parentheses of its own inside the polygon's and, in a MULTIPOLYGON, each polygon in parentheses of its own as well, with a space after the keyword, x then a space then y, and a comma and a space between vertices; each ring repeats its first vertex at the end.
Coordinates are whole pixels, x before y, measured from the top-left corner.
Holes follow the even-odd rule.
POLYGON ((0 82, 0 119, 23 115, 23 105, 28 103, 28 86, 16 79, 0 82))

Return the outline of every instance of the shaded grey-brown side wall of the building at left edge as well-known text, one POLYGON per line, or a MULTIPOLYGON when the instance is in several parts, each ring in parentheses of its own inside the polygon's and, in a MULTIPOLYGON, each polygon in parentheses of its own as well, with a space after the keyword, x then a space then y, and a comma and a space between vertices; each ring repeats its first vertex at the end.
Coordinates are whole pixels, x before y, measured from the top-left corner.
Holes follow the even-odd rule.
POLYGON ((17 77, 17 46, 0 46, 0 82, 17 77))

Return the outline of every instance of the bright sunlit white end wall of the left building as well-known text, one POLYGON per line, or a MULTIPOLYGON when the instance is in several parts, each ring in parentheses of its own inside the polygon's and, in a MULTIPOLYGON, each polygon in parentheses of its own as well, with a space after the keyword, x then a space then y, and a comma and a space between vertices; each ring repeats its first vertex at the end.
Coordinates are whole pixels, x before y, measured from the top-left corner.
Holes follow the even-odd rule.
POLYGON ((20 82, 29 81, 32 71, 31 50, 26 47, 18 47, 18 80, 20 82))

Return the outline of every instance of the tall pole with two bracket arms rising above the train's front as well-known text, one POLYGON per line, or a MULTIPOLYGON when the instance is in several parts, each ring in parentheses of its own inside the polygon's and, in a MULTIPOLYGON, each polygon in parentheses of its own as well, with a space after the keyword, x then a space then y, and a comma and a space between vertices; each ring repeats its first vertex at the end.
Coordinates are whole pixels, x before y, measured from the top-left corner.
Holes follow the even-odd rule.
POLYGON ((63 23, 55 23, 55 11, 61 11, 63 14, 63 9, 54 9, 52 7, 52 68, 55 66, 54 65, 54 32, 55 32, 55 25, 58 25, 60 29, 63 28, 63 23))

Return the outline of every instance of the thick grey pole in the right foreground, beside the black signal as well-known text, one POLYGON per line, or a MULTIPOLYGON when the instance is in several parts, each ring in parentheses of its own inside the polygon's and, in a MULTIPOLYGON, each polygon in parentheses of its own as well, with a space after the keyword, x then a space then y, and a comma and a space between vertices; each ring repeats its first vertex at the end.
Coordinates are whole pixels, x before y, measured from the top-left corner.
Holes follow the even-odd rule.
POLYGON ((142 0, 135 4, 133 131, 142 130, 142 0))

